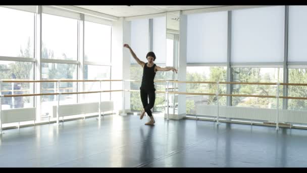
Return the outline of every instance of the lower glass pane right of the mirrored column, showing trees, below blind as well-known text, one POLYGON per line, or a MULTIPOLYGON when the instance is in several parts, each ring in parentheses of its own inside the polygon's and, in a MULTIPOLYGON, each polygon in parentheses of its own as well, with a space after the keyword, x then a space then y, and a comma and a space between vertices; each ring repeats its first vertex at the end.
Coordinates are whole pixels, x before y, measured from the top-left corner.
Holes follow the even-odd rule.
MULTIPOLYGON (((226 81, 227 67, 214 66, 188 66, 186 68, 187 81, 226 81)), ((217 84, 186 83, 188 93, 213 93, 217 90, 217 84)), ((219 93, 226 94, 226 84, 219 84, 219 93)), ((197 114, 197 104, 217 105, 216 96, 186 95, 187 114, 197 114)), ((219 105, 226 105, 226 97, 219 97, 219 105)))

